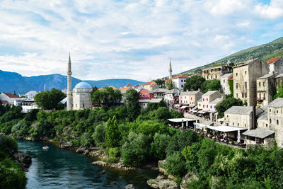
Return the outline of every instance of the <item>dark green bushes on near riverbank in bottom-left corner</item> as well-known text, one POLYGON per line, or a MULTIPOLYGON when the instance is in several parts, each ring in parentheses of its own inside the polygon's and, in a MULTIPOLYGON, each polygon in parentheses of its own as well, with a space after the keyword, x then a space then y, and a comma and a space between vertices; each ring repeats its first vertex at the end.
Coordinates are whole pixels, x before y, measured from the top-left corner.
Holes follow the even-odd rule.
POLYGON ((25 188, 25 172, 20 164, 11 159, 11 154, 17 150, 15 139, 0 137, 0 189, 25 188))

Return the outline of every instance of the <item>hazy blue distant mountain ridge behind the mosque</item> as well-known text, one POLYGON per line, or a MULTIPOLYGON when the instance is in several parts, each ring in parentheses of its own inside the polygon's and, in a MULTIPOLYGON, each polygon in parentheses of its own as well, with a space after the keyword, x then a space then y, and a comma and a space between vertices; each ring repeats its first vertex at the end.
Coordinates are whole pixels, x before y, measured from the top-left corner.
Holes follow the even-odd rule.
MULTIPOLYGON (((74 88, 76 84, 81 82, 81 79, 71 78, 71 87, 74 88)), ((125 86, 127 84, 137 85, 143 84, 142 81, 133 79, 105 79, 98 81, 86 81, 91 86, 105 87, 115 86, 117 88, 125 86)), ((67 88, 67 76, 61 74, 50 74, 41 76, 22 76, 16 72, 2 71, 0 70, 0 92, 7 92, 16 94, 27 93, 28 91, 43 91, 44 85, 46 90, 51 88, 63 89, 67 88)))

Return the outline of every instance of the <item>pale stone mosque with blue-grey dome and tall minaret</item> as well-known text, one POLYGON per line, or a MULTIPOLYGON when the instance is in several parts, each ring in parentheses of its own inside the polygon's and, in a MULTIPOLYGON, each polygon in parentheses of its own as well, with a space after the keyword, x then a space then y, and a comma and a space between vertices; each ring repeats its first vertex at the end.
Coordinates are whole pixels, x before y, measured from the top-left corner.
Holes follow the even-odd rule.
POLYGON ((79 84, 76 84, 73 91, 71 91, 71 74, 71 57, 69 55, 67 71, 67 110, 84 110, 86 108, 92 108, 92 86, 82 81, 79 84))

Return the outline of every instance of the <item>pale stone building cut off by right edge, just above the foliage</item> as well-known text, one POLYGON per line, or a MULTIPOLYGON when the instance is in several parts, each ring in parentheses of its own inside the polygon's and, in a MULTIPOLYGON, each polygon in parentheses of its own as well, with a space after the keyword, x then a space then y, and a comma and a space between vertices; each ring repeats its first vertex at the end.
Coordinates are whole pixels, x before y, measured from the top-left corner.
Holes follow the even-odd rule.
POLYGON ((277 98, 268 105, 270 130, 275 132, 278 147, 283 147, 283 98, 277 98))

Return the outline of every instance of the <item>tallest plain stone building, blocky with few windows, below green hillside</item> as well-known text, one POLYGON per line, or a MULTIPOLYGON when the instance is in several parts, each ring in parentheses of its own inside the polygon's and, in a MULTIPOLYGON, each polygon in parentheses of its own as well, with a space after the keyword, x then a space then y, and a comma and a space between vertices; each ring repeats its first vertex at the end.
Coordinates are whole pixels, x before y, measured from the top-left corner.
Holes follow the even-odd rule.
POLYGON ((233 96, 256 105, 256 79, 268 73, 268 66, 261 59, 250 59, 233 67, 233 96))

